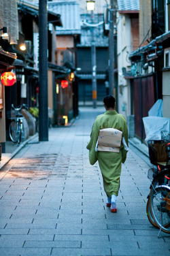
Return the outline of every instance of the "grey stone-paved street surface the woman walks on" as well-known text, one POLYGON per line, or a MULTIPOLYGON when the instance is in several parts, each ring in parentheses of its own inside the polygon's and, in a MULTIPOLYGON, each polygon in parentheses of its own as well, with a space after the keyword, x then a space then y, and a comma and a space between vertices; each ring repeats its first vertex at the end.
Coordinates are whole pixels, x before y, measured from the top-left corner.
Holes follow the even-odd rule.
POLYGON ((70 127, 29 141, 0 171, 0 255, 169 255, 170 236, 146 216, 147 157, 133 146, 122 165, 118 212, 105 207, 99 165, 86 144, 103 108, 81 108, 70 127))

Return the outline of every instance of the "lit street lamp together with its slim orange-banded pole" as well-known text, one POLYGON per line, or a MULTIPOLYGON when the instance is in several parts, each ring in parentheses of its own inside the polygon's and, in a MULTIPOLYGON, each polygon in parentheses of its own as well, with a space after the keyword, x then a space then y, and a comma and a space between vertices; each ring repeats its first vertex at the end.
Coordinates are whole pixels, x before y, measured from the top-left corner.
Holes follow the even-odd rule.
MULTIPOLYGON (((94 22, 93 11, 95 10, 95 1, 86 1, 87 10, 91 11, 92 23, 94 22)), ((92 42, 91 42, 91 60, 92 60, 92 105, 97 107, 97 79, 96 79, 96 46, 95 35, 92 27, 92 42)))

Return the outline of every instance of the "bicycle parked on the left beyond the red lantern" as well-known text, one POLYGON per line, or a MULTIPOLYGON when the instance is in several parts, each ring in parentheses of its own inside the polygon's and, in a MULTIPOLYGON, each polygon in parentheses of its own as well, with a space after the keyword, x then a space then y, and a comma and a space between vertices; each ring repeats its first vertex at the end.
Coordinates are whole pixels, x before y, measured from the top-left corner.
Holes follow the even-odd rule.
POLYGON ((22 129, 23 129, 23 115, 21 114, 22 108, 27 109, 27 105, 22 104, 19 108, 14 108, 12 104, 12 111, 14 112, 14 117, 12 117, 12 121, 9 127, 10 139, 12 142, 20 144, 22 129))

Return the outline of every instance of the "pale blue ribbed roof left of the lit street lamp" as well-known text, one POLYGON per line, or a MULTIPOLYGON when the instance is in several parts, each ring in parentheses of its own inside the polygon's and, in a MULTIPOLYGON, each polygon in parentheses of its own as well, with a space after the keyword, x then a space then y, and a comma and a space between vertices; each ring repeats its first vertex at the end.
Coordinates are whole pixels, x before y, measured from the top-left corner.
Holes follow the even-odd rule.
POLYGON ((75 1, 48 2, 48 10, 61 14, 63 27, 56 27, 56 35, 80 34, 80 5, 75 1))

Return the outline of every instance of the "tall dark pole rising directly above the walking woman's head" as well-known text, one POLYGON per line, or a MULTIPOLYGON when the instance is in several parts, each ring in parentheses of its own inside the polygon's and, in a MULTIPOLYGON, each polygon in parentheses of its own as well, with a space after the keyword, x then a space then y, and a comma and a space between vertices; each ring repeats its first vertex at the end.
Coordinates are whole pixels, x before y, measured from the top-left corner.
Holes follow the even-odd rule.
POLYGON ((109 9, 109 94, 114 96, 114 0, 109 9))

